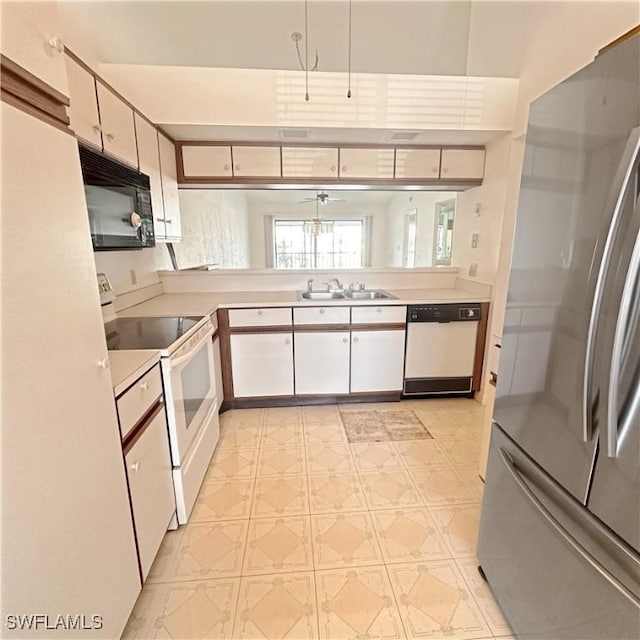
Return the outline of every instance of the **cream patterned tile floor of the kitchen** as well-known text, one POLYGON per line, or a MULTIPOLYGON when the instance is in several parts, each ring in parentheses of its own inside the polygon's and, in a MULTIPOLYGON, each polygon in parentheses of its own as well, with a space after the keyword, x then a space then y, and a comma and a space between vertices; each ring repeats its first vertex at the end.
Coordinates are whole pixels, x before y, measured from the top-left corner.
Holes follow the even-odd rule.
POLYGON ((506 640, 476 568, 481 420, 467 399, 223 414, 124 637, 506 640), (350 444, 341 411, 385 412, 397 439, 350 444))

